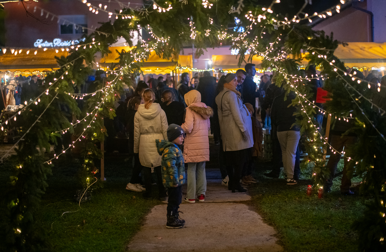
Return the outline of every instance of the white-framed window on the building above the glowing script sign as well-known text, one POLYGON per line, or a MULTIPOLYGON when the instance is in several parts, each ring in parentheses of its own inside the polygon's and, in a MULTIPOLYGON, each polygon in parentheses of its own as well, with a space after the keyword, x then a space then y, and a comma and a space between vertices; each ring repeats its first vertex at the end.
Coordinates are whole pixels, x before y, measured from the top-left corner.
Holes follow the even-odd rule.
POLYGON ((59 35, 87 34, 86 15, 61 15, 58 24, 59 35))

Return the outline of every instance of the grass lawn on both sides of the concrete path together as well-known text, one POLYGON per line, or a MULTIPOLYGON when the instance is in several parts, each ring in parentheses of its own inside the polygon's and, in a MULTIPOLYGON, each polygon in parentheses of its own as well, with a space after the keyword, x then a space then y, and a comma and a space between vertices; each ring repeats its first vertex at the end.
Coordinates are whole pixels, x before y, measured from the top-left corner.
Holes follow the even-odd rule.
MULTIPOLYGON (((215 148, 211 152, 215 152, 215 148)), ((215 157, 213 155, 208 169, 217 166, 215 157)), ((76 158, 58 159, 49 177, 49 188, 36 212, 36 221, 45 228, 52 251, 125 251, 144 216, 160 203, 156 195, 158 190, 153 190, 153 200, 143 200, 141 193, 125 190, 131 176, 130 161, 127 156, 107 156, 104 188, 94 189, 92 200, 79 207, 73 196, 80 189, 77 171, 81 163, 76 158)), ((255 176, 260 183, 249 188, 250 203, 276 229, 279 243, 286 251, 357 251, 357 234, 351 225, 362 215, 364 206, 359 196, 340 194, 341 176, 335 178, 332 193, 318 199, 317 195, 306 196, 310 171, 302 171, 299 184, 287 186, 284 179, 263 175, 270 165, 269 162, 257 165, 255 176)), ((0 197, 11 166, 7 161, 0 166, 0 197)), ((342 165, 338 172, 341 169, 342 165)), ((355 184, 360 179, 352 181, 355 184)))

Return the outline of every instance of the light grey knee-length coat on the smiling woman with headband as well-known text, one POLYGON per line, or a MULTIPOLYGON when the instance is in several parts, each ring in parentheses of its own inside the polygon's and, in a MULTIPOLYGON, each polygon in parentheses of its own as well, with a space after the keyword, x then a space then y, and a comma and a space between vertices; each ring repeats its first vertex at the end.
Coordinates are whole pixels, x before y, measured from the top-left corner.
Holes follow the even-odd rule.
POLYGON ((224 88, 216 96, 223 151, 239 151, 253 146, 251 114, 238 95, 224 88), (243 140, 241 132, 246 132, 243 140))

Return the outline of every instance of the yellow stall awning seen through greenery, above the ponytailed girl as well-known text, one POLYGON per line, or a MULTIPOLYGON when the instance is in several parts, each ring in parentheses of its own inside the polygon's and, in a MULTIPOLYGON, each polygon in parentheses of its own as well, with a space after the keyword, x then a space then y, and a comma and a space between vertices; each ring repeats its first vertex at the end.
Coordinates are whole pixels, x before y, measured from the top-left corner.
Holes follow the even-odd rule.
MULTIPOLYGON (((118 63, 119 60, 117 58, 119 57, 119 54, 117 53, 117 51, 130 51, 131 47, 116 46, 110 47, 109 50, 111 51, 111 53, 109 53, 106 57, 100 59, 101 66, 107 67, 111 63, 118 63)), ((162 57, 158 56, 155 51, 152 51, 149 56, 149 59, 141 63, 141 69, 142 71, 144 71, 144 73, 166 74, 176 69, 178 63, 178 56, 172 56, 169 59, 163 59, 162 57)))

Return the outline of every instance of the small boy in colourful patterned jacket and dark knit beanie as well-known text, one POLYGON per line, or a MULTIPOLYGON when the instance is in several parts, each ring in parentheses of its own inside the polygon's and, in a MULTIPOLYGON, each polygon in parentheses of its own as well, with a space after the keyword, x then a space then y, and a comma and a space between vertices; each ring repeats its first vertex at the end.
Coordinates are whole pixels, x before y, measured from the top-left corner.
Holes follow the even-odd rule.
POLYGON ((185 220, 179 218, 179 204, 182 200, 182 185, 185 183, 185 162, 181 150, 184 140, 184 130, 176 124, 168 127, 168 141, 156 139, 156 146, 161 155, 162 179, 164 187, 168 188, 167 228, 182 228, 185 220))

